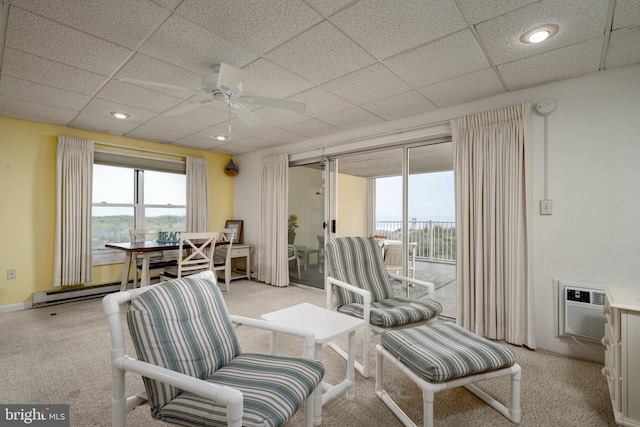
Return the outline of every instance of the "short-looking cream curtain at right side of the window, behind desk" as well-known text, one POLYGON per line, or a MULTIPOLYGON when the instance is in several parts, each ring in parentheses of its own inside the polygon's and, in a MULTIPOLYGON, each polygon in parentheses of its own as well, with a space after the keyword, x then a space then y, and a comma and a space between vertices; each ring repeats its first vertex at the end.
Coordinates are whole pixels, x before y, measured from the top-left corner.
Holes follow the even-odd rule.
POLYGON ((187 231, 209 231, 207 159, 187 156, 187 231))

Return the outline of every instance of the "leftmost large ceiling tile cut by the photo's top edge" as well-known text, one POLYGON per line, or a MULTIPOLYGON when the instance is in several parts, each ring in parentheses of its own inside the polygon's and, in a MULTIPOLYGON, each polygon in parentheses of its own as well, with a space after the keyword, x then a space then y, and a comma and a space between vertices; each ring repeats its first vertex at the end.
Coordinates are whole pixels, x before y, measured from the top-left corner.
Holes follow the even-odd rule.
POLYGON ((131 49, 170 14, 146 0, 12 0, 11 3, 131 49))

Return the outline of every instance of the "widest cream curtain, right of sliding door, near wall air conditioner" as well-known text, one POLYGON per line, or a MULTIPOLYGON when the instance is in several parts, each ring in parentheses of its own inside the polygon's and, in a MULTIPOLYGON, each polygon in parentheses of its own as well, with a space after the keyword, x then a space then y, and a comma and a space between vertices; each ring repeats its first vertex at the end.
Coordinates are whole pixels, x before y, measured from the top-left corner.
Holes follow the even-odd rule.
POLYGON ((530 275, 531 103, 451 121, 457 322, 535 348, 530 275))

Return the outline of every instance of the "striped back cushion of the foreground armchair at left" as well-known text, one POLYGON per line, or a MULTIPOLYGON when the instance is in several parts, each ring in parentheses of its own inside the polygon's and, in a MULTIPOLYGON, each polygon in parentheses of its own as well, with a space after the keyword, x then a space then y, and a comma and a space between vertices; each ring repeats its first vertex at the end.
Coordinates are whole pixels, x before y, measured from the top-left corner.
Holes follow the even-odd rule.
MULTIPOLYGON (((162 282, 131 302, 127 321, 138 359, 205 379, 240 353, 215 283, 185 277, 162 282)), ((181 390, 143 378, 151 412, 181 390)))

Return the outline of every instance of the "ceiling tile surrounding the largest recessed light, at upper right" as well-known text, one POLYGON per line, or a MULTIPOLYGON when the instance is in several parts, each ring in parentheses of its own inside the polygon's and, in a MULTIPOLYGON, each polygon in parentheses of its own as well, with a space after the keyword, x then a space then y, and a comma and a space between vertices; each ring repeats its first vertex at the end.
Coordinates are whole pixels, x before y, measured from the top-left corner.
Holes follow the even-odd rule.
POLYGON ((549 52, 602 36, 608 0, 542 0, 477 26, 482 43, 495 65, 549 52), (544 24, 557 24, 558 33, 544 43, 520 41, 525 32, 544 24))

